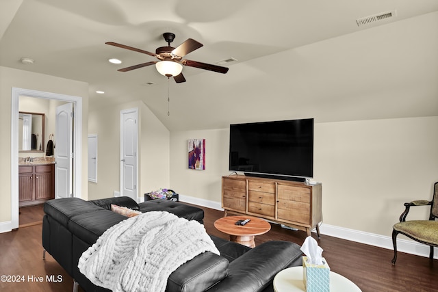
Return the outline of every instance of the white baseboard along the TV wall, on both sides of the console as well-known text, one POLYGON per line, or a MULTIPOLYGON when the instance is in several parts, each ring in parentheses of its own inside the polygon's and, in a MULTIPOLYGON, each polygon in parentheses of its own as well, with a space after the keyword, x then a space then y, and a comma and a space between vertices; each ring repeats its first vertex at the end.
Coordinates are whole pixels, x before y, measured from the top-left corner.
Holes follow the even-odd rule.
MULTIPOLYGON (((205 200, 201 198, 195 198, 191 196, 185 196, 179 194, 179 200, 183 202, 188 202, 190 204, 197 204, 198 206, 203 206, 211 209, 216 209, 224 211, 222 209, 222 204, 220 202, 205 200)), ((346 239, 349 241, 355 241, 359 243, 364 243, 368 245, 377 246, 379 248, 386 248, 387 250, 394 250, 392 245, 392 230, 390 231, 390 236, 376 235, 374 233, 366 233, 360 230, 354 230, 339 226, 333 226, 329 224, 322 224, 320 226, 320 233, 323 235, 329 235, 332 237, 337 237, 340 239, 346 239)), ((406 252, 407 254, 415 254, 417 256, 429 257, 429 246, 421 243, 417 243, 411 239, 404 239, 403 235, 398 235, 397 237, 397 250, 398 252, 406 252)), ((438 259, 437 248, 435 248, 435 257, 438 259)))

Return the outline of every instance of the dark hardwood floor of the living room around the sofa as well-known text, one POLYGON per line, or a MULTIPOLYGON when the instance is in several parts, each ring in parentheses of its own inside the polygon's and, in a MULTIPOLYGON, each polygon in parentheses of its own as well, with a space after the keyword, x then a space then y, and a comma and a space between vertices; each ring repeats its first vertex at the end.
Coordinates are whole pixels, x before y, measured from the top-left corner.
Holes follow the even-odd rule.
MULTIPOLYGON (((222 211, 204 208, 204 224, 208 233, 224 239, 228 236, 214 228, 214 221, 223 216, 222 211)), ((42 216, 42 209, 36 217, 42 216)), ((42 259, 42 225, 30 224, 10 233, 0 234, 0 291, 72 291, 73 279, 47 254, 42 259), (50 281, 50 276, 59 280, 50 281), (36 282, 41 280, 42 282, 36 282), (49 277, 49 278, 47 278, 49 277), (21 282, 18 282, 21 280, 21 282)), ((315 235, 314 235, 315 236, 315 235)), ((256 245, 271 240, 286 240, 302 244, 306 234, 272 224, 265 235, 255 238, 256 245)), ((331 270, 349 278, 362 291, 438 291, 438 262, 422 256, 398 255, 396 266, 391 265, 392 250, 355 243, 322 235, 319 245, 331 270)), ((52 279, 53 279, 52 278, 52 279)), ((79 288, 79 291, 83 291, 79 288)), ((239 291, 236 291, 239 292, 239 291)))

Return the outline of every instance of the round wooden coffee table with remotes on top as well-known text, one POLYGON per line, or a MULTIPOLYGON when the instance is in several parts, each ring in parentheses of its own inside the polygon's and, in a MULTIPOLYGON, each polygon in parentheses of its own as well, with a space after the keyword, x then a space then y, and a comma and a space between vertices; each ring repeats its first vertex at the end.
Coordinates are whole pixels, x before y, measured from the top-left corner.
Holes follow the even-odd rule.
POLYGON ((214 222, 214 227, 222 233, 230 235, 230 241, 234 241, 250 248, 255 247, 255 235, 262 235, 271 230, 271 224, 263 219, 251 216, 227 216, 214 222), (244 226, 235 225, 237 220, 250 219, 244 226))

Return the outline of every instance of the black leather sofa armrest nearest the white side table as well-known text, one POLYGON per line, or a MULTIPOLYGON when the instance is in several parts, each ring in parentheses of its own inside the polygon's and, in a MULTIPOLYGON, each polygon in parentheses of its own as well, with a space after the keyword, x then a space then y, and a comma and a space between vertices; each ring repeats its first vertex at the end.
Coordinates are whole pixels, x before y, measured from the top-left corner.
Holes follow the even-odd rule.
POLYGON ((263 291, 279 271, 300 265, 300 245, 289 241, 268 241, 231 262, 227 278, 207 291, 263 291))

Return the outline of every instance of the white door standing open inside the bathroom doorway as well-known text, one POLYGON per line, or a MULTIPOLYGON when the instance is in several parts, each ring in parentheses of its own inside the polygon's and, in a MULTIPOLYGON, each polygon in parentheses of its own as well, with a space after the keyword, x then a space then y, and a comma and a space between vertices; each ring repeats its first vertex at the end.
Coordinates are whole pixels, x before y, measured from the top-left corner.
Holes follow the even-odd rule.
POLYGON ((73 196, 73 103, 56 108, 55 198, 73 196))

